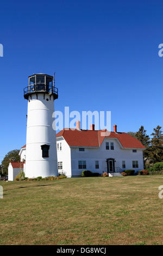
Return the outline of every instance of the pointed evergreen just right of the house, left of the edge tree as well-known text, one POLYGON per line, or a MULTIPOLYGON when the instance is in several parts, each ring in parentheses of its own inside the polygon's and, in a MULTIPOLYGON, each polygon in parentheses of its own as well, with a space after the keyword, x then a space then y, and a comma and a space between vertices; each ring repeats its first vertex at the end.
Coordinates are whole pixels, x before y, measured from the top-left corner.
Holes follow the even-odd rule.
POLYGON ((150 153, 150 145, 151 145, 151 140, 149 136, 146 134, 146 130, 144 127, 141 125, 140 129, 138 132, 136 132, 135 138, 138 139, 145 147, 146 149, 143 151, 143 160, 144 160, 144 165, 146 166, 146 162, 149 159, 149 153, 150 153))

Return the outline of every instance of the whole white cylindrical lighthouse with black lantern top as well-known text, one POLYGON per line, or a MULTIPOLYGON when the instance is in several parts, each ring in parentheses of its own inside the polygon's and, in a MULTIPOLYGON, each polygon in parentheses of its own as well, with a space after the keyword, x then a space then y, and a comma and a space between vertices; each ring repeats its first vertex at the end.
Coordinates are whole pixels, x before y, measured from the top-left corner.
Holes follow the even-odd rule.
POLYGON ((53 76, 29 76, 24 99, 28 100, 25 175, 28 178, 58 176, 56 134, 52 127, 58 89, 53 76))

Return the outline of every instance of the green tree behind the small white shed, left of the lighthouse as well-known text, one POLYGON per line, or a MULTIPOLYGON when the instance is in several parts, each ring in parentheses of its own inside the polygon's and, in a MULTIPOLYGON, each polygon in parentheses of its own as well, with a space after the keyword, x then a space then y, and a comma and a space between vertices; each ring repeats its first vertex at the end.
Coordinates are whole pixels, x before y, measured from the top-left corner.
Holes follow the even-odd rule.
POLYGON ((19 149, 14 149, 12 151, 9 151, 7 155, 5 155, 1 165, 3 166, 3 174, 8 174, 8 166, 11 161, 20 161, 20 156, 18 155, 19 149))

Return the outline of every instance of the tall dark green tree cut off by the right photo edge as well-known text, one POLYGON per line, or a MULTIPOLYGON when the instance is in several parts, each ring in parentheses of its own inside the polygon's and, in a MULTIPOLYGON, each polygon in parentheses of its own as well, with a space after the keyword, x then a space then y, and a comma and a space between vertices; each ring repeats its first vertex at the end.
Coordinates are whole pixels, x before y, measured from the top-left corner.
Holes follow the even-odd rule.
POLYGON ((161 126, 157 126, 153 129, 151 134, 153 138, 151 139, 151 150, 150 158, 152 163, 163 161, 163 134, 161 126))

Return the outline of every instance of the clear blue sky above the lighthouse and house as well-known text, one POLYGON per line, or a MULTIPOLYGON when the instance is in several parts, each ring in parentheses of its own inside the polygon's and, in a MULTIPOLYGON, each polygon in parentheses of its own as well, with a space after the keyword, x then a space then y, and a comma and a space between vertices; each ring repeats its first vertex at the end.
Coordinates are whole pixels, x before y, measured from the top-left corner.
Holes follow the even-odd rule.
POLYGON ((162 0, 1 1, 0 162, 26 144, 23 88, 53 75, 55 110, 111 111, 111 127, 151 135, 162 121, 162 0))

